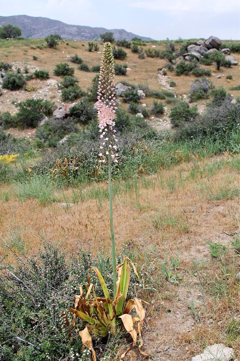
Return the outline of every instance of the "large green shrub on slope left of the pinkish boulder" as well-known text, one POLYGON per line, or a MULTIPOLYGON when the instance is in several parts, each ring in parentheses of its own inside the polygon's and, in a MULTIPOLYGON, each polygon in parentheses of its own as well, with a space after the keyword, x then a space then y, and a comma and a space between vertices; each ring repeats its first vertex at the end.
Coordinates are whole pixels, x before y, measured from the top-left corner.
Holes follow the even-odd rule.
POLYGON ((41 121, 44 114, 42 110, 43 99, 27 99, 17 103, 19 112, 17 113, 17 121, 21 127, 36 127, 41 121))

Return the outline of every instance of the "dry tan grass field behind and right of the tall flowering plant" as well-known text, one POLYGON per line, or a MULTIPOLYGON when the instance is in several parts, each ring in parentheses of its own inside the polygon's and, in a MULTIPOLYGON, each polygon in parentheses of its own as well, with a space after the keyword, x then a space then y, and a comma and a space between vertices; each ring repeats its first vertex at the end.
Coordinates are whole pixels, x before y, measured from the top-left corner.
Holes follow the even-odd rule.
MULTIPOLYGON (((231 325, 237 327, 239 322, 239 282, 235 275, 240 260, 239 255, 234 257, 231 242, 235 236, 230 235, 237 232, 239 198, 235 195, 209 200, 208 193, 203 192, 203 186, 208 189, 210 184, 212 189, 213 183, 220 188, 226 183, 226 174, 231 178, 229 187, 238 187, 239 173, 230 158, 190 162, 139 178, 135 188, 114 196, 116 252, 120 254, 130 243, 145 280, 143 287, 154 287, 158 292, 138 292, 151 305, 146 305, 144 339, 157 360, 191 360, 215 342, 234 347, 236 357, 240 356, 240 340, 231 337, 229 331, 231 325), (217 170, 209 175, 209 169, 214 167, 217 170), (197 173, 192 171, 195 168, 197 173), (169 179, 175 179, 173 191, 169 179), (206 241, 220 242, 228 252, 214 259, 206 241), (182 273, 179 284, 172 284, 161 273, 161 261, 177 256, 178 272, 182 273), (195 265, 199 278, 193 275, 195 265), (222 280, 224 273, 228 273, 229 286, 222 280)), ((96 187, 106 188, 107 184, 93 184, 82 191, 87 195, 96 187)), ((111 253, 108 201, 104 197, 78 201, 66 208, 56 203, 41 206, 34 199, 20 202, 11 185, 2 185, 0 194, 3 192, 8 193, 9 200, 0 201, 0 238, 6 239, 11 228, 19 230, 24 226, 26 255, 37 252, 43 237, 56 243, 65 240, 67 250, 89 248, 92 255, 97 251, 103 255, 111 253)), ((71 202, 72 189, 54 192, 59 201, 71 202)), ((2 243, 1 256, 7 251, 2 243)), ((131 357, 134 360, 137 356, 131 357)))

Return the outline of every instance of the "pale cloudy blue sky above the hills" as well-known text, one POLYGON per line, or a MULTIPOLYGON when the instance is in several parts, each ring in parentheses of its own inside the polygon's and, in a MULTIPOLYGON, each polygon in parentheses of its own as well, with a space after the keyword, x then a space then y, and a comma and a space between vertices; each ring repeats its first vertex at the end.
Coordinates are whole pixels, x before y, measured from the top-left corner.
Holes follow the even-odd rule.
POLYGON ((11 0, 1 2, 0 15, 124 29, 155 40, 240 38, 239 0, 11 0))

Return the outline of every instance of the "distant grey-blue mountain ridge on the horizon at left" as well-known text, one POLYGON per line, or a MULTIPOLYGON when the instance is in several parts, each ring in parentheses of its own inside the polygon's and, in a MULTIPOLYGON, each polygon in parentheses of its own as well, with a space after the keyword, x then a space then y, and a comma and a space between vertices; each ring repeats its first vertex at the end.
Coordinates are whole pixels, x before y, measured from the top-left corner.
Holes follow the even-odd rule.
MULTIPOLYGON (((124 29, 105 29, 104 27, 90 27, 81 25, 69 25, 62 21, 43 17, 27 15, 0 16, 0 25, 12 24, 22 30, 23 38, 45 38, 49 34, 58 34, 63 39, 72 40, 97 40, 100 34, 106 31, 114 33, 114 38, 131 40, 136 34, 124 29)), ((142 40, 152 40, 145 36, 139 36, 142 40)))

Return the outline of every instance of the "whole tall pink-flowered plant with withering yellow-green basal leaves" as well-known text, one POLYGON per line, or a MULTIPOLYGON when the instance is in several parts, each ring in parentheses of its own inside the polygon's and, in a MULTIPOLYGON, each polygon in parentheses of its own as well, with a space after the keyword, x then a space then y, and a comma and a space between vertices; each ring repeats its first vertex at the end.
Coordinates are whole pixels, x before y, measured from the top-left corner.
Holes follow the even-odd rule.
MULTIPOLYGON (((137 334, 139 335, 138 349, 142 355, 148 356, 141 350, 143 341, 141 330, 143 319, 145 318, 145 310, 139 299, 126 301, 129 282, 130 282, 130 264, 138 277, 137 270, 133 262, 124 257, 123 263, 116 266, 114 227, 112 218, 112 178, 111 178, 111 161, 118 162, 117 157, 117 139, 115 126, 115 84, 114 84, 114 57, 112 55, 111 44, 105 43, 102 56, 102 66, 100 69, 98 83, 98 126, 101 139, 101 152, 99 153, 100 163, 106 162, 108 157, 108 187, 109 187, 109 205, 110 205, 110 223, 111 223, 111 243, 112 243, 112 268, 113 268, 113 300, 107 289, 105 280, 100 271, 95 267, 88 270, 88 285, 86 287, 86 295, 84 296, 83 288, 80 286, 80 295, 74 296, 75 308, 70 308, 74 313, 72 326, 75 326, 76 316, 87 322, 83 331, 79 332, 83 344, 92 350, 92 359, 96 361, 95 351, 92 345, 92 338, 89 334, 106 337, 108 333, 116 333, 117 326, 124 326, 125 330, 132 336, 133 345, 121 355, 123 360, 126 353, 137 344, 137 334), (89 271, 93 270, 99 279, 105 297, 97 297, 93 283, 90 283, 89 271), (116 271, 118 278, 116 280, 116 271), (136 315, 130 316, 129 312, 135 308, 136 315)), ((139 277, 138 277, 139 279, 139 277)), ((148 357, 150 360, 150 358, 148 357)))

